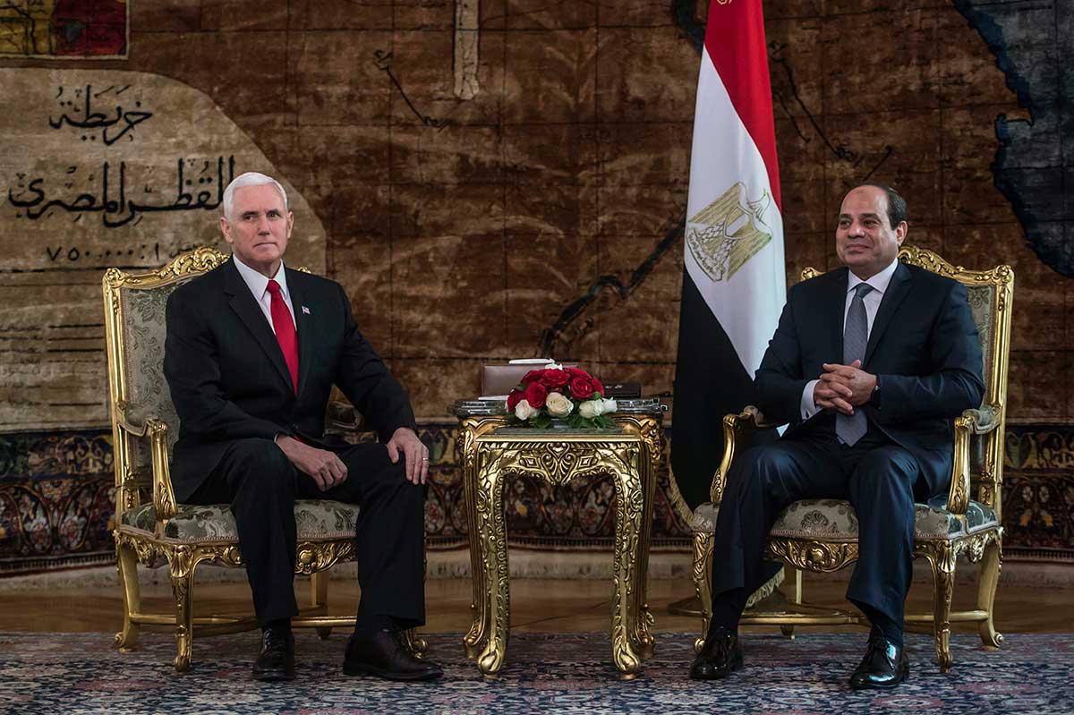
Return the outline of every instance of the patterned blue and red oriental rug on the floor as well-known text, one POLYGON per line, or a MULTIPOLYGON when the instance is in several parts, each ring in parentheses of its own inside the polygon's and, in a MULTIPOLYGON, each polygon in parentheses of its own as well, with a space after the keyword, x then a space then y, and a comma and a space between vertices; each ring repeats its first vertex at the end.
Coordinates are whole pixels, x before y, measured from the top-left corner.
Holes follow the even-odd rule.
POLYGON ((619 680, 607 634, 523 633, 511 639, 500 678, 485 682, 458 634, 427 637, 445 665, 435 684, 393 684, 340 672, 345 639, 297 633, 299 674, 291 684, 249 680, 255 633, 202 639, 187 675, 171 667, 174 644, 144 637, 120 654, 104 633, 0 633, 0 713, 890 713, 1074 712, 1070 634, 1019 634, 1002 651, 977 637, 952 640, 955 666, 943 675, 927 636, 910 636, 911 678, 890 692, 846 685, 865 633, 804 633, 790 641, 748 634, 746 667, 717 683, 686 677, 692 636, 657 634, 656 656, 635 681, 619 680))

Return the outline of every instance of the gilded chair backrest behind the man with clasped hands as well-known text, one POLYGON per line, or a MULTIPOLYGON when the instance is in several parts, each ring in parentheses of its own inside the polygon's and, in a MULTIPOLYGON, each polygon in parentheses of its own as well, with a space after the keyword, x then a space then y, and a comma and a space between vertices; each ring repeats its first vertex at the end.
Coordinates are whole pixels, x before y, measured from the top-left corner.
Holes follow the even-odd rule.
MULTIPOLYGON (((1007 358, 1011 350, 1011 309, 1014 301, 1014 271, 999 265, 989 271, 969 271, 952 265, 937 253, 924 248, 903 246, 899 260, 966 286, 970 311, 977 325, 984 352, 985 398, 983 405, 996 410, 999 426, 984 436, 974 437, 970 450, 971 483, 977 490, 977 500, 988 504, 999 513, 999 487, 1003 480, 1003 442, 1006 408, 1007 358)), ((802 271, 802 280, 821 272, 802 271)))

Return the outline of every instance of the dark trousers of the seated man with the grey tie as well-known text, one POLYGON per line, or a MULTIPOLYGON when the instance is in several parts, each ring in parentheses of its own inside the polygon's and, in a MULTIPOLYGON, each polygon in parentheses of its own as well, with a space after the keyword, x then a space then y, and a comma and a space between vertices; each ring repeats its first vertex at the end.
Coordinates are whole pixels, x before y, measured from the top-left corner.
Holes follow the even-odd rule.
POLYGON ((780 512, 799 499, 846 499, 858 520, 858 560, 846 597, 902 627, 913 572, 914 499, 929 497, 916 459, 875 426, 853 447, 836 438, 833 420, 748 450, 727 475, 712 564, 712 596, 745 599, 770 570, 765 542, 780 512))

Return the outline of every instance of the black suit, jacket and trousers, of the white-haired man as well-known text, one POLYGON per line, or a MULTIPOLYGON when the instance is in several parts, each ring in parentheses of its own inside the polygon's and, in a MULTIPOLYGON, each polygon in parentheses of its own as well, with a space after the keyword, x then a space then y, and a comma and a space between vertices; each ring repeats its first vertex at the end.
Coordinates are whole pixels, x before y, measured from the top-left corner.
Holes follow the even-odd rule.
POLYGON ((360 611, 404 625, 424 619, 424 506, 404 459, 383 444, 324 436, 337 385, 387 441, 413 427, 400 383, 362 337, 343 288, 286 269, 299 340, 297 393, 268 321, 233 261, 180 286, 168 302, 164 375, 179 415, 172 481, 180 502, 230 502, 262 625, 297 613, 293 504, 326 498, 360 505, 360 611), (291 435, 334 451, 348 477, 326 492, 274 443, 291 435))

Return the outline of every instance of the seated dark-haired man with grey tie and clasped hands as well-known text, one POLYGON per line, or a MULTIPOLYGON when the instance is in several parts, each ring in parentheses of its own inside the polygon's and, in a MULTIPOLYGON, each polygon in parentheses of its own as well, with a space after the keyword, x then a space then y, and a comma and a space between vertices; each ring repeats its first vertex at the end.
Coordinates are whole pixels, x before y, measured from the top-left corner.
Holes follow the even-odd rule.
POLYGON ((836 252, 845 267, 793 287, 754 377, 775 442, 732 463, 716 519, 712 623, 691 677, 742 666, 738 623, 761 585, 765 540, 792 501, 847 499, 858 561, 846 597, 869 618, 855 688, 895 687, 909 673, 902 626, 914 501, 943 501, 950 420, 978 407, 982 352, 959 282, 897 261, 906 204, 865 184, 844 198, 836 252))

